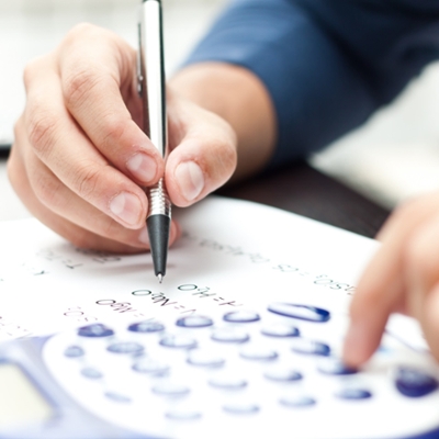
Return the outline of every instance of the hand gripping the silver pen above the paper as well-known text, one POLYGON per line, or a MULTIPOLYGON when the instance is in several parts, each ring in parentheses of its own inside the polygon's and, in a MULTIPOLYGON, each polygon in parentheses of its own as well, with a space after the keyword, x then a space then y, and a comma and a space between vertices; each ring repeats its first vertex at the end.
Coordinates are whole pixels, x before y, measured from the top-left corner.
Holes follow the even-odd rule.
MULTIPOLYGON (((165 164, 139 128, 136 53, 116 35, 76 26, 24 72, 27 102, 15 125, 9 178, 37 218, 76 246, 134 252, 149 247, 140 187, 165 176, 188 206, 236 166, 236 138, 217 115, 168 90, 165 164)), ((170 243, 179 235, 171 225, 170 243)))

